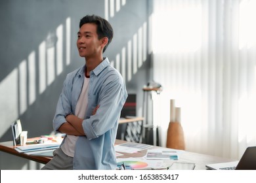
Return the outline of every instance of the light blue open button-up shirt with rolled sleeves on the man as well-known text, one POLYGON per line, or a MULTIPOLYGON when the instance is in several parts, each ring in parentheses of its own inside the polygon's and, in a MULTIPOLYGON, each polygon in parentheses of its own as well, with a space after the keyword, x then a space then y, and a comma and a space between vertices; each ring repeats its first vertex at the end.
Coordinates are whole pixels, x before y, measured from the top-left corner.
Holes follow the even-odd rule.
MULTIPOLYGON (((53 119, 55 130, 66 122, 68 114, 74 114, 84 76, 85 65, 66 76, 53 119)), ((83 120, 85 136, 79 136, 76 141, 73 169, 116 169, 114 142, 126 99, 123 78, 105 58, 90 72, 88 107, 83 120), (100 107, 92 116, 97 105, 100 107)))

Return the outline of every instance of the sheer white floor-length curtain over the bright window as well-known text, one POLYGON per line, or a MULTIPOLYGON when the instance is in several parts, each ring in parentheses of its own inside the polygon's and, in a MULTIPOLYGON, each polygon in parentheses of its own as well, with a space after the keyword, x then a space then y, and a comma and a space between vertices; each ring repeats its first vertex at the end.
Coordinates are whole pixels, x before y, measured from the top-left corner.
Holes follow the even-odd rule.
POLYGON ((175 99, 186 150, 240 158, 256 145, 256 1, 154 0, 153 7, 161 145, 175 99))

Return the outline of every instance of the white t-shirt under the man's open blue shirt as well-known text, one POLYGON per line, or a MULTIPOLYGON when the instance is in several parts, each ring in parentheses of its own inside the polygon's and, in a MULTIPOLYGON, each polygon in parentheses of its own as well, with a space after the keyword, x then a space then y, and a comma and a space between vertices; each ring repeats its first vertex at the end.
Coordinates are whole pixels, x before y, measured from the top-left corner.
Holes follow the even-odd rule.
MULTIPOLYGON (((85 119, 85 112, 88 105, 88 90, 89 90, 89 80, 90 78, 85 77, 83 81, 83 88, 79 95, 77 105, 75 107, 75 116, 81 119, 85 119)), ((78 137, 75 135, 67 135, 64 143, 61 146, 62 151, 70 157, 74 157, 75 154, 75 142, 78 137)))

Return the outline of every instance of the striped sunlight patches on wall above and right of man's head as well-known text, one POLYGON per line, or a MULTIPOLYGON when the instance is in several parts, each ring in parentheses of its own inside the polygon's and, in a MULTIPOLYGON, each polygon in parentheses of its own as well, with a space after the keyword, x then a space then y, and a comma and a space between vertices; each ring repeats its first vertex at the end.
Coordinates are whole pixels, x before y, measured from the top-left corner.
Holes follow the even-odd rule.
MULTIPOLYGON (((125 0, 105 0, 105 19, 113 18, 125 4, 125 0)), ((110 64, 121 73, 125 82, 131 81, 132 76, 147 59, 147 26, 148 23, 144 22, 127 42, 127 46, 119 50, 116 59, 110 61, 110 64)))

